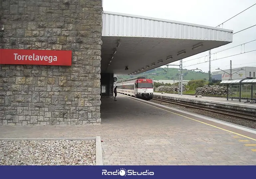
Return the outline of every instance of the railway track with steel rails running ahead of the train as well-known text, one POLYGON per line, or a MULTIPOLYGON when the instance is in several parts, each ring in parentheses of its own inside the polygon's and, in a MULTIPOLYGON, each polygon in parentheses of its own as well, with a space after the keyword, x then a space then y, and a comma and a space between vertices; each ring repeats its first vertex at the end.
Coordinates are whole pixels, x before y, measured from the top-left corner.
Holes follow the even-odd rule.
POLYGON ((182 103, 182 102, 177 102, 177 101, 172 101, 172 100, 167 100, 167 99, 159 99, 159 98, 156 98, 156 97, 153 97, 153 99, 157 100, 157 101, 177 104, 177 105, 181 105, 181 106, 185 106, 185 107, 202 109, 202 110, 206 110, 206 111, 210 111, 210 112, 216 112, 216 113, 219 113, 219 114, 223 114, 223 115, 226 115, 226 116, 232 116, 232 117, 236 117, 236 118, 241 118, 241 119, 244 119, 244 120, 250 120, 250 121, 254 121, 254 122, 256 121, 255 114, 241 114, 241 112, 235 111, 235 110, 227 111, 226 109, 213 109, 213 108, 206 107, 206 106, 203 106, 203 105, 192 104, 192 103, 190 103, 190 104, 182 103))

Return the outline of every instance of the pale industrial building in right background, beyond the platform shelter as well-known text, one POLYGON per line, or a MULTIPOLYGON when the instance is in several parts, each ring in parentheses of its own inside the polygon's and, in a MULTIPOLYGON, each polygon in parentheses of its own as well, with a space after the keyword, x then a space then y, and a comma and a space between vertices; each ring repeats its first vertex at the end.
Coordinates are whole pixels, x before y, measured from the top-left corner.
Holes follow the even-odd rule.
MULTIPOLYGON (((231 74, 232 75, 232 80, 239 80, 239 79, 244 79, 247 77, 252 77, 255 78, 255 72, 256 72, 256 67, 240 67, 240 68, 234 68, 232 69, 231 74)), ((229 80, 230 79, 230 69, 226 70, 219 70, 216 72, 212 72, 212 79, 215 80, 229 80)))

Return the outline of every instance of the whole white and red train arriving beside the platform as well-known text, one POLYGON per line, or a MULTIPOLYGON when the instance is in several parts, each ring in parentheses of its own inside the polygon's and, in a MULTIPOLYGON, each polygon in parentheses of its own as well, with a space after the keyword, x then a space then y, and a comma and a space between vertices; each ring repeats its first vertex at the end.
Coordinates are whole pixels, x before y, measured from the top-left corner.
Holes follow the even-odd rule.
POLYGON ((153 98, 153 80, 136 77, 116 84, 116 91, 121 94, 150 100, 153 98))

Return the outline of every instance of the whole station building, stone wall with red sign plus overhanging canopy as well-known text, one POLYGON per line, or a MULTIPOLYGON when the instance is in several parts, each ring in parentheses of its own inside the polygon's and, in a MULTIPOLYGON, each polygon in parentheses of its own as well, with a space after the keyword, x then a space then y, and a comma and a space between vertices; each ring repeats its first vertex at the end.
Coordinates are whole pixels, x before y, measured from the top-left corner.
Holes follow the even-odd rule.
POLYGON ((113 74, 139 74, 232 42, 232 30, 103 12, 101 0, 0 6, 0 125, 100 124, 113 74))

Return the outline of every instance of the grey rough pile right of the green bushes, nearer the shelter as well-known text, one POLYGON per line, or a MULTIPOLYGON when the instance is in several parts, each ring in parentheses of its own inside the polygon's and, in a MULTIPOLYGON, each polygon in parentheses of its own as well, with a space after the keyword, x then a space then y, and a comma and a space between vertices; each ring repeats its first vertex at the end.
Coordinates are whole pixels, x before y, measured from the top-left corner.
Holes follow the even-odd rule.
POLYGON ((201 94, 201 95, 227 95, 227 88, 226 87, 220 87, 220 86, 208 86, 205 85, 204 87, 198 87, 195 89, 195 94, 201 94))

